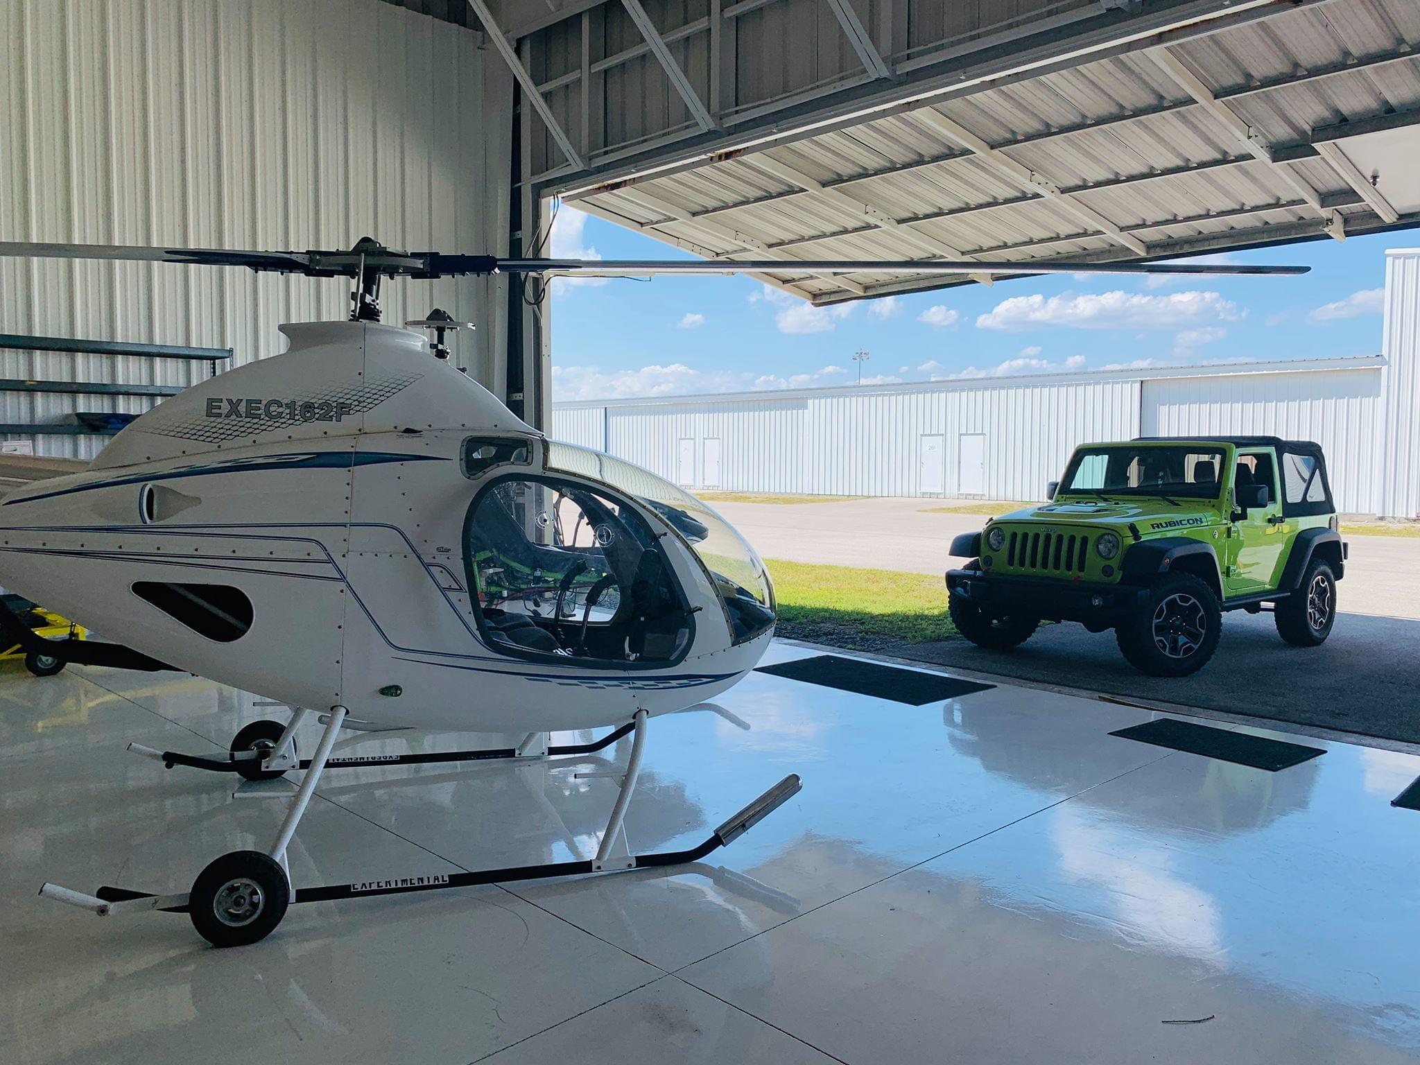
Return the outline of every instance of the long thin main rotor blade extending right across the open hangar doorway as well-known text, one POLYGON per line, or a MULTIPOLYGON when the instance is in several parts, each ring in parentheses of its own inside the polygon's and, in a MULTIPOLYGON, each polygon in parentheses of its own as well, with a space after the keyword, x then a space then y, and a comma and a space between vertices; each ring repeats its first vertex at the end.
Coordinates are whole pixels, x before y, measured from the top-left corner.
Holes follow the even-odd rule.
POLYGON ((578 277, 653 277, 694 274, 1305 274, 1305 266, 1233 263, 991 263, 984 260, 845 260, 845 258, 500 258, 506 274, 577 274, 578 277))

